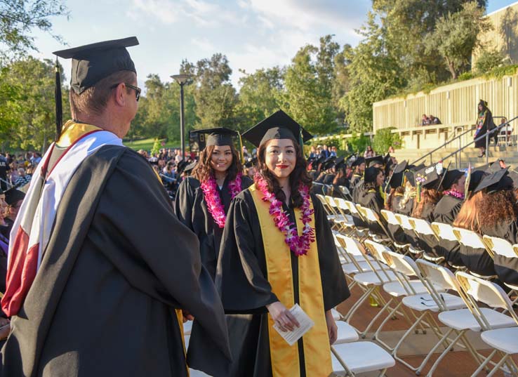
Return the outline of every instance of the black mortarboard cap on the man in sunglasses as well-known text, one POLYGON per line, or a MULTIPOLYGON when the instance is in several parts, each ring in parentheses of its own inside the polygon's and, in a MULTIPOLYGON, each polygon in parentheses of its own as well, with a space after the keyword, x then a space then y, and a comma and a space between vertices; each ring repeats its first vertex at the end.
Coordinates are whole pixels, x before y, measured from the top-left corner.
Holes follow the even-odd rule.
POLYGON ((137 46, 138 39, 129 37, 55 51, 60 58, 72 58, 70 86, 80 94, 110 74, 135 72, 133 60, 126 47, 137 46))

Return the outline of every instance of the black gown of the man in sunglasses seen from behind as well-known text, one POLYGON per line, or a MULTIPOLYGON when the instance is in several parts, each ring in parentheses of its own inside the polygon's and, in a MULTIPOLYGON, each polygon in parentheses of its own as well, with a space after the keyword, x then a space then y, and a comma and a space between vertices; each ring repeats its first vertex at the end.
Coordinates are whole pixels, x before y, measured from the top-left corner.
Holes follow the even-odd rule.
POLYGON ((1 350, 0 376, 185 377, 175 308, 197 317, 195 369, 226 376, 223 306, 198 240, 173 213, 150 164, 104 146, 75 171, 41 266, 1 350))

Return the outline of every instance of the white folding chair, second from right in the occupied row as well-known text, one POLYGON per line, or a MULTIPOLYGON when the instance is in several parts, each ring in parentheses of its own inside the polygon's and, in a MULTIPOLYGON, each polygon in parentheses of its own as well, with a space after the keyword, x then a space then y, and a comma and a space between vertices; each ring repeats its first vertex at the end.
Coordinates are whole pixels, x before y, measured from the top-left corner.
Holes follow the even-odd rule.
POLYGON ((467 270, 482 279, 496 279, 493 253, 487 248, 482 236, 461 227, 453 227, 453 234, 460 244, 461 258, 467 270))

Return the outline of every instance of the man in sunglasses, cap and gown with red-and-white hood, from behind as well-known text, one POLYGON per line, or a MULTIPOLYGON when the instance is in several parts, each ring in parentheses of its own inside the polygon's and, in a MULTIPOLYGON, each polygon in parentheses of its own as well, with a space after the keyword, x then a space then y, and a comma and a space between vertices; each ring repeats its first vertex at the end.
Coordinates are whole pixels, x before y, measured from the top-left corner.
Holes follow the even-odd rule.
POLYGON ((1 376, 226 376, 225 315, 196 235, 175 216, 159 176, 124 147, 140 89, 135 37, 55 55, 72 58, 72 120, 38 165, 13 225, 1 307, 11 333, 1 376), (199 366, 191 342, 211 350, 199 366))

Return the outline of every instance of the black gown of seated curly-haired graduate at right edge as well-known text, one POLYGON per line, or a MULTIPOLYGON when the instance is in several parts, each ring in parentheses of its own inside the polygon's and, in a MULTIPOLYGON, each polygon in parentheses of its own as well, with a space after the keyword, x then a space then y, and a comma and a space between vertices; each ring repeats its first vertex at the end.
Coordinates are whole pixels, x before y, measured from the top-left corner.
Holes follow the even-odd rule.
MULTIPOLYGON (((493 227, 482 229, 482 234, 506 239, 510 244, 518 243, 518 220, 511 223, 498 223, 493 227)), ((504 283, 518 284, 518 258, 507 258, 495 254, 494 266, 496 275, 504 283)))

